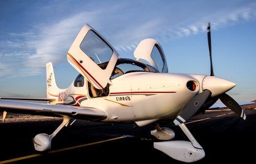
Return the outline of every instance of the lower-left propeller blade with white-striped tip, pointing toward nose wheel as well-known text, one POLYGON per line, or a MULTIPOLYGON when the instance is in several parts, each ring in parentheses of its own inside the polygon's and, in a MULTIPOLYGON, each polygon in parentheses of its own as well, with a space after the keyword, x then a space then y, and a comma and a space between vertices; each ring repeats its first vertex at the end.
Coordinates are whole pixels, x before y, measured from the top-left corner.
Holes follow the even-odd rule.
POLYGON ((203 92, 196 95, 192 100, 186 105, 186 107, 179 113, 176 119, 173 121, 175 125, 186 122, 190 117, 194 116, 195 113, 204 105, 204 102, 211 95, 209 90, 204 90, 203 92))

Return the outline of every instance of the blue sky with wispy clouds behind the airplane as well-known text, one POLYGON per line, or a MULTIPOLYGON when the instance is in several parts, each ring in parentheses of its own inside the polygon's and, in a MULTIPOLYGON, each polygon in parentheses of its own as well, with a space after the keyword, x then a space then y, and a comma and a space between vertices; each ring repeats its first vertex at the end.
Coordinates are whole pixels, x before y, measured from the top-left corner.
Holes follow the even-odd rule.
POLYGON ((0 1, 0 96, 45 97, 47 62, 68 87, 77 72, 66 53, 85 23, 124 58, 155 38, 169 72, 209 74, 207 22, 215 76, 237 83, 235 100, 255 100, 255 1, 0 1))

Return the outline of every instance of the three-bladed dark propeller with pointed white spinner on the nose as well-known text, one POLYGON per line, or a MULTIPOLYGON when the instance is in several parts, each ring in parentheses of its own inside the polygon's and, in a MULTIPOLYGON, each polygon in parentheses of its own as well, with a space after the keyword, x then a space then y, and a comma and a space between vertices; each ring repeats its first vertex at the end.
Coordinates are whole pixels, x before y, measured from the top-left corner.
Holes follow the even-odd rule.
POLYGON ((242 117, 244 120, 246 118, 242 107, 232 97, 228 96, 227 93, 225 93, 225 92, 229 91, 231 88, 233 88, 235 86, 234 83, 230 82, 230 86, 228 86, 227 84, 220 85, 220 87, 222 87, 222 88, 223 87, 228 87, 228 88, 225 88, 225 90, 224 89, 221 90, 223 92, 218 96, 214 96, 214 94, 212 94, 212 92, 214 92, 214 89, 215 89, 215 91, 220 89, 219 86, 214 86, 213 79, 215 79, 215 81, 216 80, 219 81, 220 78, 215 77, 214 72, 213 72, 213 61, 211 59, 210 23, 207 24, 207 38, 208 38, 208 49, 209 49, 209 56, 210 56, 210 71, 211 71, 210 76, 212 76, 211 77, 212 78, 211 79, 211 86, 208 86, 209 90, 206 87, 204 87, 205 90, 203 88, 203 90, 204 90, 203 92, 199 93, 198 95, 196 95, 194 98, 192 98, 190 100, 188 105, 186 105, 184 107, 184 109, 178 114, 178 116, 174 120, 175 125, 179 125, 181 123, 186 122, 187 120, 189 120, 190 117, 194 116, 195 113, 200 112, 201 110, 204 111, 205 108, 208 108, 211 105, 213 105, 218 100, 218 98, 230 110, 237 113, 237 115, 242 117))

